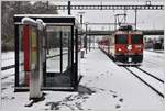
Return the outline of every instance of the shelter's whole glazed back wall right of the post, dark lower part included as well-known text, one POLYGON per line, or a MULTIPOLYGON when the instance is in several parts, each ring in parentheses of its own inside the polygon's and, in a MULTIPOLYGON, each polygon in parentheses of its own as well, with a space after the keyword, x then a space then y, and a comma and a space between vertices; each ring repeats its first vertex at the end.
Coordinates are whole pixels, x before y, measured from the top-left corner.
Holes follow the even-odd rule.
POLYGON ((72 26, 47 25, 46 87, 69 87, 72 26))

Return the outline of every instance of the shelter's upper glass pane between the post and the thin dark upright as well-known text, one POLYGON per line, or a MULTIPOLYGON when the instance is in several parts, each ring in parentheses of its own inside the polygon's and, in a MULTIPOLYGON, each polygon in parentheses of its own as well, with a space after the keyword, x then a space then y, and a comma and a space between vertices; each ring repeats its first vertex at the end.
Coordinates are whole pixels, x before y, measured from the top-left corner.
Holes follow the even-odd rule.
POLYGON ((59 26, 47 26, 46 71, 61 73, 59 26))

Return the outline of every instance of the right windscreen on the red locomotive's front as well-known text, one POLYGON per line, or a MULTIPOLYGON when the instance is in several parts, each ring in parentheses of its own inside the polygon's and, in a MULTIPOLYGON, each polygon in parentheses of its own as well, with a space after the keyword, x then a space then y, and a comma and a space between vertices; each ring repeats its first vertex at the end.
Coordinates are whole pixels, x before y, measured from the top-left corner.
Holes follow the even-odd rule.
POLYGON ((143 43, 143 35, 132 35, 131 36, 132 44, 142 44, 143 43))

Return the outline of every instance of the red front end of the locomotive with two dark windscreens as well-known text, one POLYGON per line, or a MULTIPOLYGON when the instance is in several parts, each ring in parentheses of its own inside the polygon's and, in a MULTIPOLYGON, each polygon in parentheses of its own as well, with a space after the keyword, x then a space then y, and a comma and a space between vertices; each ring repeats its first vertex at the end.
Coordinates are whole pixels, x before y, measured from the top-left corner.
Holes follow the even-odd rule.
POLYGON ((114 33, 116 62, 124 64, 142 63, 143 60, 143 33, 133 30, 119 30, 114 33))

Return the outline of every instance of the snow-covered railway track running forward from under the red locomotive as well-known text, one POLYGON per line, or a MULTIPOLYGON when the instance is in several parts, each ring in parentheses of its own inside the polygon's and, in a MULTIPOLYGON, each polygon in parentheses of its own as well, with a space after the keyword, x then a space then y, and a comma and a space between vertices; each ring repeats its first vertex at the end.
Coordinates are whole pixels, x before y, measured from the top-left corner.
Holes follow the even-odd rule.
POLYGON ((129 73, 139 78, 142 82, 148 86, 152 90, 154 90, 158 96, 164 98, 164 80, 157 78, 156 76, 147 73, 146 70, 140 67, 124 67, 129 73))

